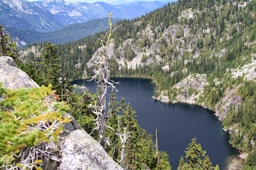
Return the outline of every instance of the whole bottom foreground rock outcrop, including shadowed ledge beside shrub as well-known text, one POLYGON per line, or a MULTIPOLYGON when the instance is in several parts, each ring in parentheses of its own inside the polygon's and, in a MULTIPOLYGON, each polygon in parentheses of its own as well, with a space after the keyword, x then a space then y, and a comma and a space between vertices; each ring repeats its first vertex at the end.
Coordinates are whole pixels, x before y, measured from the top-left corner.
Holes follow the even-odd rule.
POLYGON ((63 114, 63 117, 71 121, 63 125, 56 143, 60 165, 51 164, 47 169, 122 169, 72 116, 63 114))

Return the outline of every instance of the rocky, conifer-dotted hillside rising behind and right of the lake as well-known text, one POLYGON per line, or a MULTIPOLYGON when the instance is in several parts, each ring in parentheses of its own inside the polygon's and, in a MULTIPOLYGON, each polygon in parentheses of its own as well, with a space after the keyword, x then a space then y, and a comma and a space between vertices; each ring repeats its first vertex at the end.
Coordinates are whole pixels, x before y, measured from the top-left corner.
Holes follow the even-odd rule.
MULTIPOLYGON (((255 0, 177 1, 118 22, 108 49, 112 76, 151 77, 159 100, 168 97, 167 102, 216 111, 230 143, 248 155, 244 169, 256 165, 255 8, 255 0)), ((95 37, 105 35, 58 46, 70 78, 97 70, 92 60, 100 54, 101 43, 95 37)), ((42 47, 25 49, 24 58, 39 61, 33 51, 42 47)))

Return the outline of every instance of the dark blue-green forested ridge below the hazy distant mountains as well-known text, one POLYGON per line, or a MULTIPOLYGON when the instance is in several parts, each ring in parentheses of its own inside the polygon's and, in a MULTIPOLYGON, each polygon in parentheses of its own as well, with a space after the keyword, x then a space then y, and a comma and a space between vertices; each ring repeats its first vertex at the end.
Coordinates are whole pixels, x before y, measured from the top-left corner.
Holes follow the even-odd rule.
MULTIPOLYGON (((111 19, 112 24, 121 19, 111 19)), ((107 30, 109 28, 108 18, 104 19, 93 19, 87 22, 70 24, 69 26, 63 27, 56 31, 49 32, 38 32, 26 29, 15 29, 6 28, 6 31, 10 32, 12 38, 18 43, 19 47, 24 47, 28 43, 40 43, 40 42, 51 42, 51 43, 67 43, 74 42, 88 35, 93 35, 97 32, 107 30)))

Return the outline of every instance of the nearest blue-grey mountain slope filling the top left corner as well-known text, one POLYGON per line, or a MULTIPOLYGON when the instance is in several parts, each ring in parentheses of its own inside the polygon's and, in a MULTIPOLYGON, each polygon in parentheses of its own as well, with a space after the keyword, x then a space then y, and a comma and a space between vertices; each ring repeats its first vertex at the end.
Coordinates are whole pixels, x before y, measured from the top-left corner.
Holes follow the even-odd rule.
POLYGON ((63 27, 44 6, 25 0, 1 0, 0 24, 5 27, 41 32, 63 27))

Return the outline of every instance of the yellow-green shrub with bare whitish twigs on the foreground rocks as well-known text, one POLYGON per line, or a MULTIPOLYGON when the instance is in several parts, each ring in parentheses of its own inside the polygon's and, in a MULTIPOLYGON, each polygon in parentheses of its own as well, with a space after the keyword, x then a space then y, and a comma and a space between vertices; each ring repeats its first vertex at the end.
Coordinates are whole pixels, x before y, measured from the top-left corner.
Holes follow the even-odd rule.
POLYGON ((0 88, 0 92, 6 93, 0 102, 0 169, 40 169, 44 154, 33 157, 31 153, 38 151, 36 146, 42 149, 57 140, 61 123, 68 121, 61 116, 68 105, 56 101, 59 96, 51 86, 13 91, 0 88), (28 157, 24 158, 25 154, 28 157))

